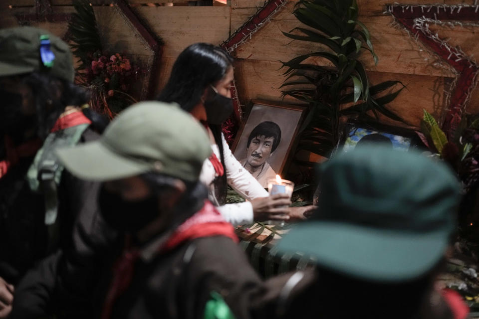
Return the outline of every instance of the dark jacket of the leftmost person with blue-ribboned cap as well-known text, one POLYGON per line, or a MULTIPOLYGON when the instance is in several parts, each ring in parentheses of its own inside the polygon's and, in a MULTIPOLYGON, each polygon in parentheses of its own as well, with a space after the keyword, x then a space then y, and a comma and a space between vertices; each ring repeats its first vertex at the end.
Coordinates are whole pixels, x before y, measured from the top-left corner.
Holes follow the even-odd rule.
MULTIPOLYGON (((79 143, 97 137, 87 129, 79 143)), ((33 157, 21 159, 0 178, 0 277, 13 285, 35 262, 58 247, 68 247, 75 216, 83 206, 96 205, 88 200, 94 183, 64 171, 57 192, 58 245, 52 245, 45 225, 45 198, 33 192, 25 178, 32 161, 33 157)))

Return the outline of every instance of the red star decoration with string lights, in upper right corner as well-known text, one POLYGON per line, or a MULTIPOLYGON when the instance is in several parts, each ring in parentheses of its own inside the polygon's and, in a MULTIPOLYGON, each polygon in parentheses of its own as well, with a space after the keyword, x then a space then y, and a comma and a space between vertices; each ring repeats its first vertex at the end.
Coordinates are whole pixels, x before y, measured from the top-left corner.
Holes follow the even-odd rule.
POLYGON ((479 21, 479 5, 394 4, 387 5, 386 8, 418 41, 424 43, 457 72, 456 85, 450 93, 449 110, 443 123, 443 130, 451 134, 461 122, 468 98, 476 84, 479 68, 464 52, 439 38, 425 24, 479 21))

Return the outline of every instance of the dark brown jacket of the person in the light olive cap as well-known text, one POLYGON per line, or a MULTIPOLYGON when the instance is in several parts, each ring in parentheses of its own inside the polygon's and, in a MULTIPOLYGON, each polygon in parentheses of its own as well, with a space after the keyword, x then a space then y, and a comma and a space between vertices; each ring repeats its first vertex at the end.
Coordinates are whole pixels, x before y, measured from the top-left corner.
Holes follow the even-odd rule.
MULTIPOLYGON (((157 239, 164 243, 170 234, 157 239)), ((15 290, 10 318, 51 313, 58 318, 100 317, 123 236, 98 212, 83 211, 75 224, 73 247, 25 276, 15 290)), ((203 318, 212 292, 223 296, 237 319, 250 318, 249 305, 264 292, 244 252, 226 236, 195 238, 138 258, 110 318, 203 318)))

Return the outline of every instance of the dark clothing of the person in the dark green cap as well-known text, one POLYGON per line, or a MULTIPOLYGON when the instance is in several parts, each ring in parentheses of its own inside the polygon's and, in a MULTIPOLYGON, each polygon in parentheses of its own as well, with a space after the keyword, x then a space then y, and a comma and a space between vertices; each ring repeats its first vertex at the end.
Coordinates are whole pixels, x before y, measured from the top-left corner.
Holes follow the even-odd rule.
POLYGON ((371 293, 367 289, 356 288, 353 279, 350 285, 338 281, 337 286, 331 287, 324 285, 322 275, 312 269, 274 277, 264 285, 266 293, 251 306, 254 318, 466 318, 460 315, 464 314, 461 308, 467 308, 464 302, 463 305, 450 307, 449 298, 434 290, 425 298, 415 300, 417 305, 411 308, 411 301, 402 292, 381 296, 381 290, 371 293), (381 298, 388 300, 388 306, 382 303, 381 298), (397 305, 401 307, 397 308, 397 305), (405 315, 410 309, 415 310, 415 315, 405 315))

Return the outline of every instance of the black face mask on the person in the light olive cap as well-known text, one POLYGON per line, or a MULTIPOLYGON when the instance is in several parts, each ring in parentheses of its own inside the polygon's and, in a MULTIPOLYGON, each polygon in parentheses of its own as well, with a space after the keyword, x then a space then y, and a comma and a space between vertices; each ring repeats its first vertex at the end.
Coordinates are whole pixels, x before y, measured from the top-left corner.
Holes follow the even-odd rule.
POLYGON ((158 199, 155 196, 127 201, 120 195, 105 190, 104 187, 100 190, 98 205, 108 225, 132 233, 141 230, 160 215, 158 199))

